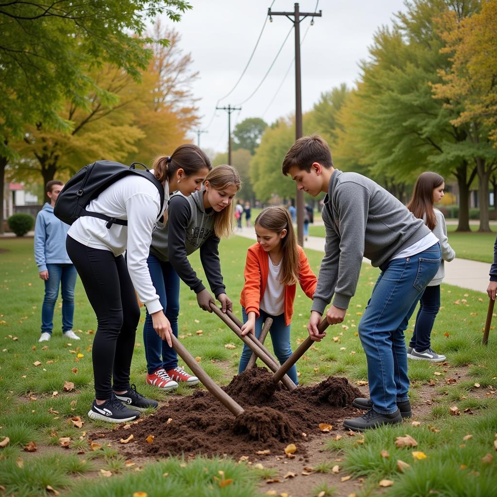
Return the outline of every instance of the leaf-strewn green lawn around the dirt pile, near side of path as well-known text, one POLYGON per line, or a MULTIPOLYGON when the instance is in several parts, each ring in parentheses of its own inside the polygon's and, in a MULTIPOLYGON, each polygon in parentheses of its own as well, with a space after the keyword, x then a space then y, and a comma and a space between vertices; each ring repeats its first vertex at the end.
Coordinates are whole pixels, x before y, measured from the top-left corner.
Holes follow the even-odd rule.
MULTIPOLYGON (((5 448, 0 448, 0 486, 5 488, 4 491, 0 488, 0 495, 52 495, 47 486, 63 495, 85 497, 132 496, 134 492, 145 492, 149 496, 265 494, 267 487, 262 491, 257 487, 260 475, 257 476, 250 466, 231 460, 196 458, 185 465, 179 459, 163 459, 149 463, 140 461, 130 466, 122 455, 108 447, 95 452, 88 450, 85 433, 95 426, 109 428, 103 423, 92 422, 86 415, 94 396, 91 347, 95 316, 78 281, 75 329, 81 340, 71 343, 63 339, 61 309, 57 304, 53 337, 48 343, 38 343, 43 282, 38 278, 32 244, 32 239, 0 240, 0 249, 7 250, 0 253, 0 443, 5 436, 10 439, 5 448), (41 363, 38 366, 34 364, 37 361, 41 363), (64 391, 65 381, 74 383, 74 391, 64 391), (70 419, 73 416, 81 416, 82 428, 73 425, 70 419), (71 439, 70 448, 63 452, 57 448, 61 437, 71 439), (31 441, 39 447, 34 455, 23 450, 31 441), (80 450, 85 454, 78 454, 80 450), (141 471, 135 471, 136 467, 141 471), (102 477, 102 470, 110 472, 112 478, 102 477), (214 476, 219 477, 218 471, 224 471, 227 479, 233 479, 229 488, 221 488, 214 480, 214 476), (166 483, 162 476, 165 473, 169 475, 166 483)), ((235 302, 239 317, 245 253, 251 244, 248 239, 234 237, 220 246, 227 292, 235 302)), ((312 250, 307 253, 317 272, 322 253, 312 250)), ((191 260, 195 270, 202 274, 198 255, 194 254, 191 260)), ((316 343, 299 361, 297 369, 301 384, 315 384, 329 375, 343 375, 353 383, 367 380, 357 325, 377 274, 377 269, 363 265, 357 292, 344 323, 330 328, 328 337, 316 343)), ((292 323, 294 347, 307 335, 310 304, 299 289, 292 323)), ((143 320, 144 309, 142 313, 143 320)), ((442 308, 432 333, 432 343, 437 352, 447 355, 448 365, 423 361, 410 364, 414 413, 416 406, 424 403, 421 390, 433 383, 432 395, 436 402, 432 403, 427 417, 420 418, 421 425, 417 427, 405 422, 401 426, 368 432, 364 437, 330 439, 326 446, 330 451, 330 465, 339 457, 342 459, 340 474, 365 478, 364 485, 356 492, 358 497, 375 495, 380 491, 378 482, 383 479, 394 482, 387 493, 395 496, 428 496, 430 491, 446 496, 496 495, 497 395, 494 386, 497 384, 497 335, 491 331, 489 346, 481 345, 485 316, 486 301, 482 294, 442 285, 442 308), (453 367, 465 373, 464 379, 456 379, 456 383, 448 381, 456 376, 453 367), (480 386, 475 387, 475 383, 480 386), (453 406, 459 409, 460 415, 450 415, 453 406), (473 414, 466 413, 465 409, 473 414), (414 450, 424 453, 426 459, 417 460, 412 455, 413 449, 395 446, 395 438, 406 433, 417 440, 414 450), (463 441, 466 435, 472 437, 463 441), (357 443, 362 438, 364 443, 357 443), (382 450, 388 450, 390 457, 381 457, 382 450), (489 460, 486 454, 494 456, 489 460), (405 473, 397 470, 398 459, 410 464, 405 473)), ((414 319, 407 336, 413 325, 414 319)), ((241 342, 215 315, 201 311, 194 294, 184 285, 181 288, 179 335, 182 343, 194 356, 201 358, 201 365, 218 383, 227 384, 236 374, 241 342), (198 335, 197 330, 202 330, 202 335, 198 335), (228 343, 236 348, 225 348, 228 343)), ((170 394, 145 384, 142 343, 139 328, 131 381, 140 392, 166 401, 170 394)), ((185 388, 178 390, 179 394, 187 392, 185 388)), ((325 466, 326 463, 321 471, 326 470, 325 466)), ((325 491, 311 484, 309 488, 309 495, 317 496, 325 491)), ((326 495, 332 495, 332 491, 327 489, 326 495)))

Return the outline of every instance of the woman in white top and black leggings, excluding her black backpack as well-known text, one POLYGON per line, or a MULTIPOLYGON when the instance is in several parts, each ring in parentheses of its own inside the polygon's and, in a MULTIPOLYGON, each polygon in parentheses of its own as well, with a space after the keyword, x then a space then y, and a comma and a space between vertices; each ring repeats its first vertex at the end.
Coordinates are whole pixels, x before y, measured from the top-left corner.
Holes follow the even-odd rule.
POLYGON ((91 419, 130 421, 140 416, 139 411, 158 407, 129 381, 140 320, 135 289, 152 317, 154 330, 170 343, 171 326, 147 267, 152 232, 170 194, 179 190, 188 196, 199 190, 211 167, 198 147, 181 145, 172 156, 159 157, 154 163, 153 174, 165 189, 164 205, 151 181, 130 174, 108 186, 86 207, 90 212, 127 220, 127 226, 107 228, 105 220, 83 216, 68 232, 67 251, 98 322, 92 348, 96 396, 88 412, 91 419))

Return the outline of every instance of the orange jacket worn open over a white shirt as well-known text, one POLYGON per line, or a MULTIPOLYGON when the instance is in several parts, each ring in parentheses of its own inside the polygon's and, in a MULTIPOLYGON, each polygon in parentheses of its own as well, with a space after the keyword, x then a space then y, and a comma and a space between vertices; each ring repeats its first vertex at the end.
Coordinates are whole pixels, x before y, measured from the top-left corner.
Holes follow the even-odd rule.
MULTIPOLYGON (((300 268, 297 271, 299 283, 304 293, 312 299, 318 278, 313 273, 307 256, 302 247, 298 247, 300 254, 300 268)), ((269 254, 264 251, 260 244, 256 243, 248 248, 247 261, 245 263, 245 285, 240 297, 240 304, 245 307, 245 312, 255 312, 259 317, 259 303, 266 290, 267 274, 269 272, 269 254)), ((285 286, 285 324, 288 326, 292 321, 293 302, 295 300, 296 285, 285 286)))

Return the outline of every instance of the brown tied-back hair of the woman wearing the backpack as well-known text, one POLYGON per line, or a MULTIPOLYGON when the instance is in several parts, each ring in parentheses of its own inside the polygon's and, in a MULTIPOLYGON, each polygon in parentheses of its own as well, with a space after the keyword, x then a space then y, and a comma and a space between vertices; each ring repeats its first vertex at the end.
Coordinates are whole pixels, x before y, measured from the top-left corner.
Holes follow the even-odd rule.
POLYGON ((178 169, 183 169, 186 176, 195 174, 200 169, 212 169, 210 159, 196 145, 180 145, 171 156, 159 156, 154 161, 154 176, 161 181, 170 181, 178 169))

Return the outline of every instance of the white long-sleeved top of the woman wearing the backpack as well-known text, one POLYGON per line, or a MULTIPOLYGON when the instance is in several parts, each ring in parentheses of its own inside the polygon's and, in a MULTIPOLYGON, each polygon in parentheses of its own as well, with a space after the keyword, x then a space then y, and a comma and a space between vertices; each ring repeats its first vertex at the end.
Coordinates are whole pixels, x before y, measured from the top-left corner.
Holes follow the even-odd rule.
POLYGON ((131 281, 149 314, 163 307, 152 284, 147 257, 152 242, 152 231, 169 200, 166 182, 164 205, 157 187, 148 179, 128 175, 106 188, 93 199, 86 210, 128 221, 128 226, 113 224, 110 228, 103 219, 91 216, 78 218, 68 235, 80 244, 100 250, 110 250, 118 256, 127 250, 131 281))

